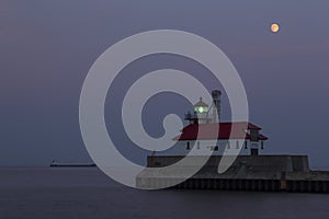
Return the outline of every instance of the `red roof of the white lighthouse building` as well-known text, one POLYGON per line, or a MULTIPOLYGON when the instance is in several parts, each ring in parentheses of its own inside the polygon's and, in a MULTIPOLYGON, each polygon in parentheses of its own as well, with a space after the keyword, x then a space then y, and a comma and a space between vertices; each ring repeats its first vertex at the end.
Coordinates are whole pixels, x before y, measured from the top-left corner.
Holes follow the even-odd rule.
MULTIPOLYGON (((195 140, 197 139, 250 139, 246 130, 260 130, 261 128, 247 122, 238 123, 215 123, 215 124, 191 124, 182 129, 182 134, 173 140, 195 140), (234 128, 234 129, 232 129, 234 128), (218 132, 213 130, 218 129, 218 132), (232 130, 231 130, 232 129, 232 130), (198 136, 197 136, 198 134, 198 136), (231 136, 230 136, 231 134, 231 136)), ((259 135, 260 140, 266 140, 268 137, 259 135)))

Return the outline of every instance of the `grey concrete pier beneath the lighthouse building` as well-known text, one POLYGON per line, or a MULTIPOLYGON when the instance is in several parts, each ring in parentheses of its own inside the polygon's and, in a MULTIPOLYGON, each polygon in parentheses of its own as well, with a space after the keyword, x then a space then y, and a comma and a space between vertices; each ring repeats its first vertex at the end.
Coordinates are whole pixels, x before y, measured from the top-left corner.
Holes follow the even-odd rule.
MULTIPOLYGON (((183 157, 148 157, 148 168, 168 166, 183 157)), ((241 155, 222 174, 217 168, 222 157, 211 157, 207 163, 192 177, 182 181, 174 175, 143 171, 136 185, 145 188, 167 187, 180 189, 226 189, 328 193, 329 172, 310 171, 306 155, 241 155)), ((183 171, 184 168, 180 166, 183 171)))

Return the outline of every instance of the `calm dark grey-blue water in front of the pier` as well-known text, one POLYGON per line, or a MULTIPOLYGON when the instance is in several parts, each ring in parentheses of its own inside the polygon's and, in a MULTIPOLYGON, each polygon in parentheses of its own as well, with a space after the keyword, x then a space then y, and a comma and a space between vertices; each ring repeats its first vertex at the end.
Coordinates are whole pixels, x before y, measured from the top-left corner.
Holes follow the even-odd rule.
POLYGON ((97 168, 0 169, 0 218, 329 218, 329 195, 138 191, 97 168))

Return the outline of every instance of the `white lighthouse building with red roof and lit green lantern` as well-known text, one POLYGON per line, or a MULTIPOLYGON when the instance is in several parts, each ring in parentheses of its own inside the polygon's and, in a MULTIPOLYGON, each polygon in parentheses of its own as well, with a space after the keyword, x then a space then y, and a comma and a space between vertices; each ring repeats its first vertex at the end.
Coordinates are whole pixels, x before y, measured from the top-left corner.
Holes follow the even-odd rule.
POLYGON ((268 137, 260 134, 259 126, 249 122, 220 122, 220 91, 213 91, 213 102, 209 104, 200 97, 194 104, 193 114, 185 115, 185 120, 190 124, 173 138, 177 145, 157 154, 185 155, 190 153, 192 147, 196 147, 193 155, 206 155, 209 152, 213 155, 229 152, 240 155, 262 154, 268 137), (198 131, 201 129, 202 131, 198 131))

